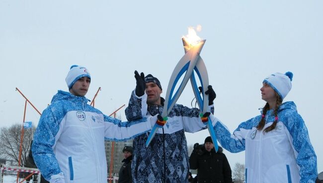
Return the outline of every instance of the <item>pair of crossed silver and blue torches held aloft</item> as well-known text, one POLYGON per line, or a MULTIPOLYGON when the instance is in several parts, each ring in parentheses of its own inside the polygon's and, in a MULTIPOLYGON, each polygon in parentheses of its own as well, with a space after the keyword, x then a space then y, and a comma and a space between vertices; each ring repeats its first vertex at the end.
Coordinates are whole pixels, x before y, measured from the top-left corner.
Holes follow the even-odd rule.
MULTIPOLYGON (((182 41, 183 41, 183 45, 184 45, 185 55, 177 63, 176 67, 174 68, 173 73, 171 74, 171 77, 170 77, 170 80, 168 83, 164 107, 163 107, 163 111, 161 114, 161 116, 163 117, 163 121, 164 121, 163 124, 165 124, 169 112, 171 111, 172 107, 175 105, 177 99, 179 98, 180 94, 184 90, 189 79, 191 81, 194 95, 195 95, 196 101, 198 103, 198 106, 199 106, 202 114, 204 114, 205 112, 208 111, 209 98, 205 94, 205 91, 208 90, 209 78, 208 78, 208 73, 207 73, 204 61, 200 57, 201 50, 202 50, 206 40, 201 40, 194 46, 189 44, 185 40, 185 38, 182 38, 182 41), (203 97, 201 97, 201 95, 199 93, 199 89, 198 89, 196 79, 194 76, 194 71, 199 78, 199 81, 200 81, 200 84, 202 87, 202 96, 203 97), (175 86, 179 82, 179 79, 181 78, 181 76, 183 74, 185 74, 185 76, 182 79, 177 91, 175 91, 175 86)), ((215 150, 217 152, 218 148, 219 148, 218 143, 217 143, 217 137, 215 135, 213 125, 212 125, 210 118, 207 117, 207 120, 204 119, 203 123, 207 126, 207 128, 210 132, 212 141, 214 143, 215 150)), ((146 147, 148 147, 148 145, 150 144, 150 142, 154 138, 158 129, 163 127, 163 124, 156 123, 154 125, 151 133, 149 134, 149 136, 147 138, 146 147)))

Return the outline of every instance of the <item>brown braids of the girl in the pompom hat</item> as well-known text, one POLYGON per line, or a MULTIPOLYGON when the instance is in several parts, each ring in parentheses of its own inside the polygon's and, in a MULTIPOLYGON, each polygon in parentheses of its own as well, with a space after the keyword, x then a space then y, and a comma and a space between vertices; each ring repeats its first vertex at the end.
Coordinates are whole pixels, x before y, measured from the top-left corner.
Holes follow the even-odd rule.
MULTIPOLYGON (((275 92, 275 95, 276 95, 276 105, 275 105, 275 108, 274 108, 275 121, 270 126, 265 128, 263 130, 263 133, 270 132, 271 130, 275 129, 276 124, 278 122, 278 107, 283 103, 283 100, 281 99, 279 94, 277 94, 277 92, 275 92)), ((262 108, 262 117, 261 117, 261 120, 259 121, 259 123, 257 125, 257 130, 262 130, 263 127, 265 126, 265 122, 266 122, 265 116, 266 116, 266 113, 267 113, 267 111, 269 109, 270 109, 269 103, 267 102, 265 104, 265 106, 262 108)))

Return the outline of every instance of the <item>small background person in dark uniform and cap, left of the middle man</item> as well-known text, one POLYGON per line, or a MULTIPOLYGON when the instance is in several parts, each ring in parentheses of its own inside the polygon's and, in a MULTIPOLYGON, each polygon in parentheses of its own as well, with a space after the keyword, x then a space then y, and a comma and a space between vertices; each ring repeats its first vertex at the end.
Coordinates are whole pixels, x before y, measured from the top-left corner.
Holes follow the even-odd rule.
POLYGON ((119 171, 119 181, 118 183, 132 183, 132 176, 131 176, 131 162, 132 162, 132 147, 125 146, 122 150, 123 156, 125 157, 122 160, 124 163, 119 171))

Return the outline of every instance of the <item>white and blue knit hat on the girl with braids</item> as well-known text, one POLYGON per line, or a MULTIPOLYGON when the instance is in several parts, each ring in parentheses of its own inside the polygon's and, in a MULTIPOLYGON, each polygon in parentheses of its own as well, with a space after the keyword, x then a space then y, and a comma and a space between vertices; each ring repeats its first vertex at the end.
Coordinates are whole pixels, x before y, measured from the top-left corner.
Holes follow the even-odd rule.
POLYGON ((271 88, 276 91, 283 100, 288 92, 292 89, 293 73, 287 72, 285 74, 275 73, 263 80, 263 83, 267 83, 271 88))

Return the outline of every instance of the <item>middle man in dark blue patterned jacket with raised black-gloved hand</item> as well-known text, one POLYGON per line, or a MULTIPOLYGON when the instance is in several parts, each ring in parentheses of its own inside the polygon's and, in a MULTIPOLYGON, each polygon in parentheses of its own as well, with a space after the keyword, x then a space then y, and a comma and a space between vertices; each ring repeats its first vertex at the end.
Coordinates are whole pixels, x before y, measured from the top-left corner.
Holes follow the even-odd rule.
MULTIPOLYGON (((135 71, 136 89, 126 108, 127 119, 137 120, 146 115, 161 114, 164 99, 161 83, 152 75, 135 71), (146 92, 146 93, 145 93, 146 92)), ((215 92, 209 93, 209 111, 213 113, 215 92)), ((189 161, 184 132, 206 129, 198 108, 175 104, 168 114, 167 123, 160 128, 146 148, 148 133, 135 137, 133 143, 132 179, 134 183, 187 183, 189 161)))

